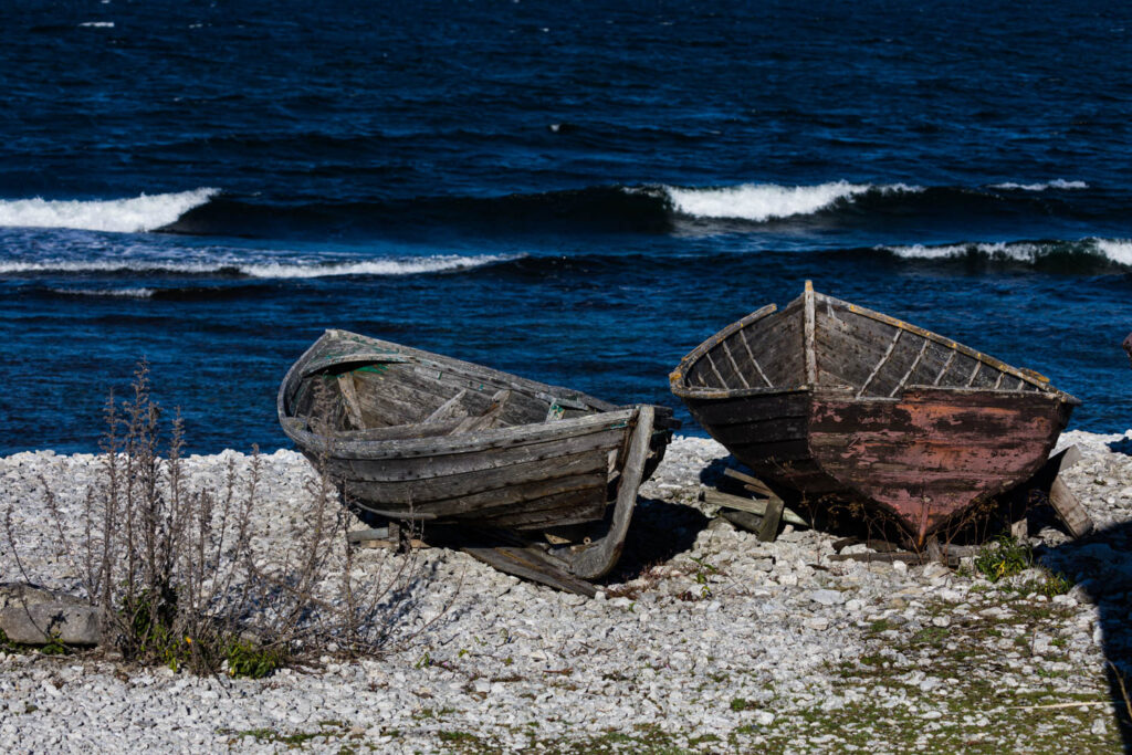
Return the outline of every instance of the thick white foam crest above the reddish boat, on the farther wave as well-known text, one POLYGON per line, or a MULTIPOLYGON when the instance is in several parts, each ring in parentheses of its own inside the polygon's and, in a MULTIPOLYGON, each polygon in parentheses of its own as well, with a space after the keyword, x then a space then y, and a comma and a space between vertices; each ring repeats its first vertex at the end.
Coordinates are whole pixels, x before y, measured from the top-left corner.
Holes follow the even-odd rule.
POLYGON ((895 183, 877 186, 833 181, 816 186, 779 186, 744 183, 711 189, 663 187, 676 212, 692 217, 735 218, 764 222, 778 217, 809 215, 838 200, 850 199, 867 191, 916 192, 921 187, 895 183))

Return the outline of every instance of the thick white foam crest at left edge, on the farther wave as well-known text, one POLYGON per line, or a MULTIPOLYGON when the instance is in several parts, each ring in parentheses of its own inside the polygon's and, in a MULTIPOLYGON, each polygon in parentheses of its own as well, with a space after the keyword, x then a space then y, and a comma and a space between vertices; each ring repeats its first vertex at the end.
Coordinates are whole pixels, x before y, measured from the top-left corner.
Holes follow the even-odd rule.
POLYGON ((6 199, 0 200, 0 225, 140 233, 169 225, 216 194, 204 188, 129 199, 6 199))

